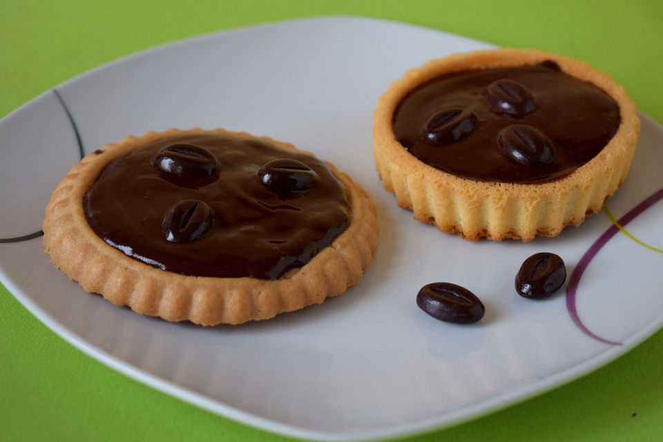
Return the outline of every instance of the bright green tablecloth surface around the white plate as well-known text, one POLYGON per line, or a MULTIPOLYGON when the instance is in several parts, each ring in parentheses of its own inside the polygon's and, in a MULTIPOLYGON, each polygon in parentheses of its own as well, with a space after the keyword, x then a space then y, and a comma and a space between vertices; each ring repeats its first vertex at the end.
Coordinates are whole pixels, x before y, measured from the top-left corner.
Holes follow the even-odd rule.
MULTIPOLYGON (((500 46, 584 59, 624 85, 640 111, 663 122, 660 0, 0 0, 0 116, 61 81, 137 50, 206 32, 317 15, 383 17, 500 46)), ((406 439, 660 441, 662 366, 660 331, 564 387, 463 425, 406 439)), ((59 338, 0 287, 0 441, 182 439, 289 440, 114 372, 59 338)))

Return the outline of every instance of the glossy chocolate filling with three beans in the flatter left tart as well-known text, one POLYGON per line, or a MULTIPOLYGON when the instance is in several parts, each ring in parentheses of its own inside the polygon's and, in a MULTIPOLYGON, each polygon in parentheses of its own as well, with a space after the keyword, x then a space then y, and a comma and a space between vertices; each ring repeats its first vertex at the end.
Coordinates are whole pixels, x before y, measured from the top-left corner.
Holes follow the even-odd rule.
POLYGON ((344 186, 320 160, 259 140, 177 135, 106 166, 83 198, 97 236, 189 276, 276 279, 349 223, 344 186))

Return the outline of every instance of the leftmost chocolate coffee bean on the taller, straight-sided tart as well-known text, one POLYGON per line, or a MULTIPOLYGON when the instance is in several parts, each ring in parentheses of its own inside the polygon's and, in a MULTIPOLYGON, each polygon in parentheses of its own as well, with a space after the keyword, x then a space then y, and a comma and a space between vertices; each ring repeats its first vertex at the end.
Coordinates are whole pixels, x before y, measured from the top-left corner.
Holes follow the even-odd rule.
POLYGON ((477 117, 465 108, 448 108, 428 119, 423 137, 436 146, 457 142, 472 132, 477 117))

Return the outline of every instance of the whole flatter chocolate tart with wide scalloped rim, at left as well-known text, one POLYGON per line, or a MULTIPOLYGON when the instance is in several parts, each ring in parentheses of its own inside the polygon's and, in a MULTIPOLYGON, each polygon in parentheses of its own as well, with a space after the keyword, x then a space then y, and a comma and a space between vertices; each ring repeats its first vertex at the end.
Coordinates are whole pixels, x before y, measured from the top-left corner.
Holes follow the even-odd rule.
POLYGON ((53 191, 42 229, 52 264, 85 291, 200 325, 341 294, 369 267, 378 236, 367 194, 332 164, 267 137, 200 128, 86 155, 53 191), (247 152, 262 155, 255 166, 247 152), (182 154, 189 163, 177 169, 182 154))

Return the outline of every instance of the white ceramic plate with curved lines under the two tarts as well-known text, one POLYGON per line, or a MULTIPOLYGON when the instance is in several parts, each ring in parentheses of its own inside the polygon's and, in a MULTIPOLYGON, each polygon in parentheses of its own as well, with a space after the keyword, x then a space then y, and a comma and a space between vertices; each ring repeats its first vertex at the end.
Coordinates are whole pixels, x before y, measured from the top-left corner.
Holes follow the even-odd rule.
MULTIPOLYGON (((40 239, 0 244, 1 279, 102 363, 218 414, 310 439, 427 430, 586 374, 663 324, 662 253, 611 238, 577 285, 583 332, 567 311, 571 293, 525 300, 513 278, 538 251, 558 253, 569 272, 582 267, 612 225, 605 213, 557 238, 468 242, 412 220, 375 173, 371 115, 387 84, 427 59, 489 47, 401 23, 306 19, 179 41, 57 86, 86 153, 147 130, 222 126, 293 142, 352 175, 378 208, 381 236, 373 265, 343 296, 238 327, 167 323, 85 294, 49 264, 40 239), (474 291, 486 317, 465 327, 424 314, 414 298, 434 281, 474 291)), ((617 218, 663 185, 651 166, 663 164, 662 144, 663 129, 643 117, 631 173, 609 204, 617 218)), ((79 160, 53 91, 0 122, 0 154, 0 238, 36 231, 50 191, 79 160)), ((627 229, 662 247, 662 214, 653 204, 627 229)))

